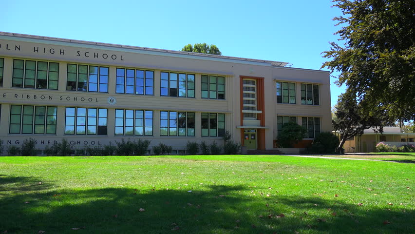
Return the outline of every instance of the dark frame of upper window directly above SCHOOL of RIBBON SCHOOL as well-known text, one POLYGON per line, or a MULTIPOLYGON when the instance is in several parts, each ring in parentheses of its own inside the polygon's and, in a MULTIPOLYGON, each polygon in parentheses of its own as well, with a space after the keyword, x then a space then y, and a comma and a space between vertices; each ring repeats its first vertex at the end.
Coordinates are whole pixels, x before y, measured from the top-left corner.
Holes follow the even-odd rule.
MULTIPOLYGON (((91 92, 91 93, 108 93, 109 92, 109 79, 110 79, 110 67, 106 67, 106 66, 99 66, 99 65, 93 65, 93 64, 83 64, 83 63, 68 63, 66 65, 66 91, 76 91, 76 92, 91 92), (69 67, 70 66, 76 66, 76 72, 70 72, 69 67), (86 66, 86 71, 85 73, 80 73, 81 67, 85 67, 86 66), (91 73, 91 68, 92 67, 96 67, 97 70, 97 74, 92 74, 91 73), (105 73, 104 70, 107 70, 107 72, 105 73), (104 72, 104 74, 102 74, 104 72), (68 81, 68 75, 69 74, 75 74, 75 81, 71 80, 68 81), (79 77, 80 75, 82 77, 85 76, 86 81, 79 81, 79 77), (96 82, 91 82, 91 77, 92 76, 96 76, 96 82), (106 82, 101 81, 102 79, 106 79, 106 82), (75 82, 75 87, 74 85, 69 85, 69 82, 75 82), (80 83, 85 83, 85 90, 80 90, 82 87, 80 87, 80 83), (96 84, 96 91, 92 90, 92 86, 91 84, 96 84), (107 87, 107 91, 100 91, 101 87, 107 87), (68 87, 72 87, 71 89, 68 89, 68 87)), ((72 70, 72 69, 71 69, 72 70)))

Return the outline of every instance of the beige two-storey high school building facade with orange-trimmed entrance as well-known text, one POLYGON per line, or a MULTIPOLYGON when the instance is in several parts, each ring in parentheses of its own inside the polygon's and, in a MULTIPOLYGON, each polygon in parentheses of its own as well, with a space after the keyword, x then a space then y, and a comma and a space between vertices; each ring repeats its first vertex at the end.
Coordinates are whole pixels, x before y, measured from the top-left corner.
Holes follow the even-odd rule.
MULTIPOLYGON (((39 150, 148 139, 184 153, 188 141, 272 150, 286 122, 303 148, 331 132, 326 71, 259 59, 0 32, 0 140, 39 150)), ((5 152, 3 152, 4 154, 5 152)))

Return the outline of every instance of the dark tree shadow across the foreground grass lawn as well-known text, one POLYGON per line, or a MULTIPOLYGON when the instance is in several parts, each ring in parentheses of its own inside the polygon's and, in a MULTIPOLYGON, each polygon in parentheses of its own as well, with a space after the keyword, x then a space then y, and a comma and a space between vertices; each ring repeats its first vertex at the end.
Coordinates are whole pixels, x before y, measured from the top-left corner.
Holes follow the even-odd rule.
POLYGON ((411 233, 414 228, 413 209, 404 213, 314 197, 250 196, 245 186, 211 185, 192 192, 180 188, 52 192, 53 183, 38 185, 38 180, 0 176, 0 233, 349 234, 411 233), (385 225, 384 220, 391 223, 385 225))

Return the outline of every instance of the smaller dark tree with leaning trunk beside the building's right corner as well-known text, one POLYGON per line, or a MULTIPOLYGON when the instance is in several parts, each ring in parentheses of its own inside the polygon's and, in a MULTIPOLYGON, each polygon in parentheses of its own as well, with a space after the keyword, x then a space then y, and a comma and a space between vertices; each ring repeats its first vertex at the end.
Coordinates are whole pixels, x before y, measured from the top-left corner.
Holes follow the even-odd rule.
POLYGON ((337 152, 340 153, 346 140, 361 136, 365 129, 374 128, 375 131, 383 133, 383 126, 394 122, 389 120, 386 110, 377 108, 368 113, 365 112, 365 106, 364 102, 358 102, 356 96, 348 92, 339 96, 335 118, 332 119, 333 130, 340 131, 337 152))

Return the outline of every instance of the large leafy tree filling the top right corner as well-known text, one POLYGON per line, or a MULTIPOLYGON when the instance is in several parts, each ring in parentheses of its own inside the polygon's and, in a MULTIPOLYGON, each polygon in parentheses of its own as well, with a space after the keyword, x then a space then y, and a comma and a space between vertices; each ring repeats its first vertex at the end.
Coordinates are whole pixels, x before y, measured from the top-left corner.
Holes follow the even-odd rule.
POLYGON ((331 72, 340 72, 359 108, 372 116, 388 110, 399 121, 415 119, 414 0, 334 0, 343 16, 336 34, 344 45, 330 42, 323 57, 331 72))

